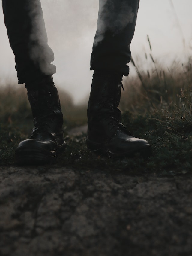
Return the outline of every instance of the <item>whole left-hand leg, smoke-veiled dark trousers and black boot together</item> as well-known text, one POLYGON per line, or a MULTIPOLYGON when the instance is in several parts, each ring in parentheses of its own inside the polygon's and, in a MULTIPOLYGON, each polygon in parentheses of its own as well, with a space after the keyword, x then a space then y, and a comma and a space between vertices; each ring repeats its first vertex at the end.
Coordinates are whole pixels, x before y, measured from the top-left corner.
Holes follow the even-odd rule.
POLYGON ((35 128, 19 143, 19 164, 48 163, 64 150, 63 115, 52 75, 54 54, 47 44, 39 0, 2 0, 5 25, 15 55, 19 84, 25 83, 35 128))

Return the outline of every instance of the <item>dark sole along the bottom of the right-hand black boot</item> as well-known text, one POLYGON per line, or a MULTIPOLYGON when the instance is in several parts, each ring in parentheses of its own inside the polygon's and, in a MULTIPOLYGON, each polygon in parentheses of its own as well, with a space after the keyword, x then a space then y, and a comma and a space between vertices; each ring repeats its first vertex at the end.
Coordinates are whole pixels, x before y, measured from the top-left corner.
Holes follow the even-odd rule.
POLYGON ((152 146, 150 144, 146 144, 141 148, 137 148, 136 150, 130 150, 124 153, 114 153, 110 151, 105 145, 92 142, 87 138, 87 148, 91 151, 94 151, 96 154, 104 154, 111 158, 134 157, 134 155, 137 153, 139 153, 143 158, 148 158, 152 155, 152 146))

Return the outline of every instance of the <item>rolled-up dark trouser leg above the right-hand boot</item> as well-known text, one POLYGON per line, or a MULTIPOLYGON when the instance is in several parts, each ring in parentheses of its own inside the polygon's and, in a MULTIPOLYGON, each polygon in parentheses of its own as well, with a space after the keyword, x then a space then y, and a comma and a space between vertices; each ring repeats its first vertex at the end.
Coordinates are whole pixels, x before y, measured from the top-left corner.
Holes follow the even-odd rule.
POLYGON ((99 0, 97 32, 91 54, 91 70, 127 76, 131 61, 139 0, 99 0))

